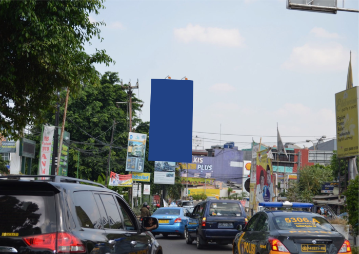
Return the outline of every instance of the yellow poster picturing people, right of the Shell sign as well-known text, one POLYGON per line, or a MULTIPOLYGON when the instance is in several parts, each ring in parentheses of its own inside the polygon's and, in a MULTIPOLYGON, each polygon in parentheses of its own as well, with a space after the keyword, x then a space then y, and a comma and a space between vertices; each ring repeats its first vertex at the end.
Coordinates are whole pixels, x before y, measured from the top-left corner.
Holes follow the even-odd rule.
POLYGON ((257 153, 256 162, 256 202, 272 202, 275 196, 273 185, 272 159, 268 157, 268 149, 257 153))

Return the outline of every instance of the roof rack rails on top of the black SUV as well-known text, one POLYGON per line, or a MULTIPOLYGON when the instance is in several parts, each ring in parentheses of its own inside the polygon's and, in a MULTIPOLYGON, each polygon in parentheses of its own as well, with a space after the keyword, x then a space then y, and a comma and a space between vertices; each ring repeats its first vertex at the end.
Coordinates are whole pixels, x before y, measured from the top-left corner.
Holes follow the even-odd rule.
POLYGON ((47 179, 37 179, 37 180, 42 180, 44 182, 52 182, 52 183, 64 183, 64 182, 76 183, 76 184, 87 183, 87 184, 97 185, 102 188, 106 188, 104 185, 92 182, 90 180, 77 179, 77 178, 62 176, 62 175, 6 175, 6 176, 2 175, 0 176, 0 180, 2 180, 2 178, 12 178, 13 180, 20 180, 20 178, 47 178, 47 179))

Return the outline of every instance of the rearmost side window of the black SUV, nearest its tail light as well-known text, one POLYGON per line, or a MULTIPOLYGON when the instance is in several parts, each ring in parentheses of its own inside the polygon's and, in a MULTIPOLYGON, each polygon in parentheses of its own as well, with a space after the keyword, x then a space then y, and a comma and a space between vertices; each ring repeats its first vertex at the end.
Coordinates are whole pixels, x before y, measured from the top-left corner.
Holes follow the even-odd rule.
POLYGON ((73 193, 78 222, 83 228, 103 229, 95 198, 90 191, 73 193))

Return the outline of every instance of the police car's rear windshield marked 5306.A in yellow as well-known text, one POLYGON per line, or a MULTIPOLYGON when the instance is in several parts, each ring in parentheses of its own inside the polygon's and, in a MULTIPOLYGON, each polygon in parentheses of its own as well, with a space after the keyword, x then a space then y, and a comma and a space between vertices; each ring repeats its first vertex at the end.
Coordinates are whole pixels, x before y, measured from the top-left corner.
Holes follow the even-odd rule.
POLYGON ((327 220, 314 214, 275 216, 273 221, 275 227, 281 230, 335 231, 327 220))

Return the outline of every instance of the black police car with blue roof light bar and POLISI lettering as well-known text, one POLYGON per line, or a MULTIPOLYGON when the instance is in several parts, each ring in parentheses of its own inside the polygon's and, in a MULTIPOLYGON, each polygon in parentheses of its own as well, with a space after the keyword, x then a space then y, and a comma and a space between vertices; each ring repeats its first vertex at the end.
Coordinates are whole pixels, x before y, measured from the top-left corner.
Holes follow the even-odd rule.
POLYGON ((276 208, 310 209, 310 203, 263 202, 233 241, 233 254, 351 254, 350 243, 324 216, 276 208))

